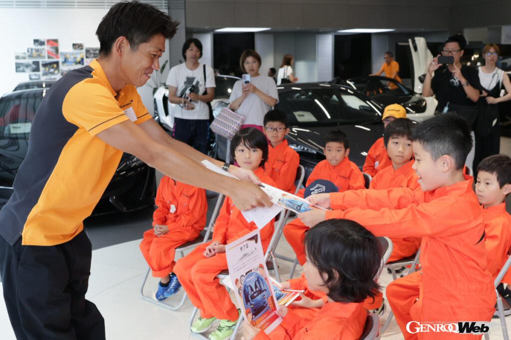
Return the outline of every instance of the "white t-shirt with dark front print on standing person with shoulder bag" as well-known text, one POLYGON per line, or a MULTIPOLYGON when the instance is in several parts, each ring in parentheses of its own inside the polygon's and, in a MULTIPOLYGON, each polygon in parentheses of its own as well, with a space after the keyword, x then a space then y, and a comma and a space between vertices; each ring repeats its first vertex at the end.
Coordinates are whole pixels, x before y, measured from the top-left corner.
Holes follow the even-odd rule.
MULTIPOLYGON (((186 97, 190 91, 202 95, 207 87, 216 87, 215 72, 211 66, 206 65, 206 81, 204 82, 203 64, 199 63, 199 67, 195 70, 190 70, 185 63, 182 63, 170 69, 166 84, 177 88, 176 96, 180 98, 186 97)), ((210 111, 205 102, 194 100, 192 104, 195 106, 193 110, 185 110, 176 105, 174 117, 182 119, 210 119, 210 111)))

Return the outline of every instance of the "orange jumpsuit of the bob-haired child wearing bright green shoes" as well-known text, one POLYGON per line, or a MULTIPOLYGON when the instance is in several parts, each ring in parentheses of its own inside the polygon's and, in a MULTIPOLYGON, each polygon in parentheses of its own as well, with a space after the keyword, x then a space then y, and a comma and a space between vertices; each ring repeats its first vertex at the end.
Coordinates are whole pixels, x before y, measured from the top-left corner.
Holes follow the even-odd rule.
MULTIPOLYGON (((274 186, 273 180, 263 168, 254 171, 263 182, 274 186)), ((261 229, 261 244, 266 251, 273 234, 274 220, 261 229)), ((254 222, 248 223, 233 201, 226 197, 213 229, 213 240, 227 244, 238 240, 257 229, 254 222)), ((230 300, 229 293, 220 283, 217 275, 227 269, 225 253, 205 257, 202 253, 212 242, 203 243, 190 254, 177 261, 174 273, 187 292, 193 305, 200 309, 202 318, 238 320, 238 307, 230 300)))

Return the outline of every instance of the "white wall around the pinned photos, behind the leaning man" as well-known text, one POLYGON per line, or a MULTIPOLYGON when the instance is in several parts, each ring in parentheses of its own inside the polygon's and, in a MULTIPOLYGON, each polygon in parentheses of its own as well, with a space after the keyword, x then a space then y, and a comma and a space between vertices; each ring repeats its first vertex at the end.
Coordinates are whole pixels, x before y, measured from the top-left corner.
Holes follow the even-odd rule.
MULTIPOLYGON (((33 47, 33 39, 58 39, 60 51, 71 51, 73 43, 84 47, 99 47, 95 35, 101 18, 108 9, 9 9, 2 8, 0 15, 0 66, 2 81, 0 95, 10 92, 21 82, 29 80, 28 73, 15 72, 14 54, 33 47)), ((168 51, 168 47, 167 47, 168 51)), ((161 58, 168 59, 168 54, 161 58)), ((168 67, 164 72, 166 79, 168 67)), ((139 89, 142 100, 152 112, 152 88, 139 89)))

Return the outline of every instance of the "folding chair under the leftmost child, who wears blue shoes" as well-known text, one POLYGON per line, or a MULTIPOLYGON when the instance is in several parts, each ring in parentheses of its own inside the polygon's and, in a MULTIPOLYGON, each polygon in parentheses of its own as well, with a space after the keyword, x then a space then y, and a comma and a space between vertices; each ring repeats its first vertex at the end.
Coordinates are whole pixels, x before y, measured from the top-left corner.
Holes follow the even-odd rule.
MULTIPOLYGON (((215 209, 213 210, 213 214, 210 218, 210 222, 207 224, 207 227, 199 233, 199 236, 195 240, 184 243, 176 248, 175 253, 179 254, 180 257, 184 257, 185 251, 195 248, 198 244, 207 242, 212 237, 211 231, 215 224, 214 222, 217 218, 218 212, 220 211, 220 207, 222 206, 224 195, 215 193, 212 191, 206 191, 206 198, 207 198, 208 202, 213 201, 216 198, 215 209)), ((160 307, 164 307, 164 308, 170 309, 170 310, 178 310, 179 308, 181 308, 188 297, 187 293, 184 292, 184 289, 183 289, 183 296, 181 297, 181 300, 179 301, 179 303, 176 305, 172 305, 170 303, 165 303, 170 298, 167 298, 165 301, 158 301, 158 300, 153 299, 152 297, 147 297, 144 295, 144 286, 146 285, 146 281, 147 281, 147 278, 149 277, 150 272, 151 272, 151 268, 149 268, 147 270, 144 280, 142 281, 142 286, 140 287, 140 296, 142 297, 142 299, 147 302, 151 302, 155 305, 158 305, 160 307)))

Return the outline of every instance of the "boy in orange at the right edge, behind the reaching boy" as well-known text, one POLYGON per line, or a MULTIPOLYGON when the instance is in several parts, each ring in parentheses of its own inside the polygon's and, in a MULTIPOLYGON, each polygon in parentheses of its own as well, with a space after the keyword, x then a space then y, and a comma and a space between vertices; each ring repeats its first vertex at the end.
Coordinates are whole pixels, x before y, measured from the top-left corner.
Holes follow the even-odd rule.
MULTIPOLYGON (((494 279, 511 247, 511 216, 505 198, 511 192, 511 159, 505 154, 486 157, 477 167, 476 194, 482 204, 488 271, 494 279)), ((506 274, 507 276, 507 274, 506 274)), ((509 282, 504 276, 502 281, 509 282)))

